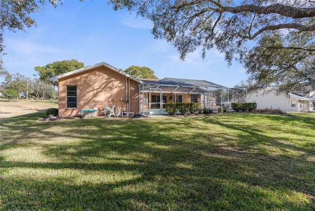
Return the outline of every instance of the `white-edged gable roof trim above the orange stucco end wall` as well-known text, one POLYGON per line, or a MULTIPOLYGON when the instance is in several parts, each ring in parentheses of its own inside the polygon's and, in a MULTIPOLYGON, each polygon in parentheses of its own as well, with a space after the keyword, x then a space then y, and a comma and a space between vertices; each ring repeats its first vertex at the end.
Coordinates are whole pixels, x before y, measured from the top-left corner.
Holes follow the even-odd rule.
POLYGON ((78 69, 78 70, 73 70, 73 71, 70 71, 70 72, 66 72, 66 73, 63 73, 61 75, 57 75, 57 76, 54 76, 54 77, 51 77, 49 78, 50 81, 56 81, 58 82, 59 79, 61 78, 64 78, 64 77, 67 77, 67 76, 71 76, 71 75, 74 75, 74 74, 77 74, 77 73, 81 73, 81 72, 84 72, 84 71, 88 71, 88 70, 92 70, 92 69, 95 69, 95 68, 99 68, 99 67, 106 67, 110 70, 113 70, 115 72, 118 72, 122 75, 125 75, 126 77, 138 82, 139 84, 143 83, 141 80, 139 80, 138 78, 132 76, 132 75, 129 75, 129 74, 126 74, 124 73, 123 71, 105 63, 105 62, 100 62, 100 63, 97 63, 95 65, 90 65, 90 66, 87 66, 87 67, 84 67, 84 68, 81 68, 81 69, 78 69))

